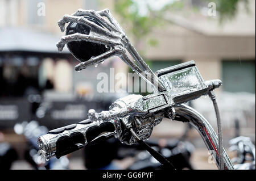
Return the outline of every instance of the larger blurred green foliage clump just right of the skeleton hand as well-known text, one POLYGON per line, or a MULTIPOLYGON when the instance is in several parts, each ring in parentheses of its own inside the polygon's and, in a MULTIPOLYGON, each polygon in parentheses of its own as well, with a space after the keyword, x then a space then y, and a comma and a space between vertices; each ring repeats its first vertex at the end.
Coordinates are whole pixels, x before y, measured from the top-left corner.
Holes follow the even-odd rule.
MULTIPOLYGON (((126 25, 126 31, 133 38, 134 45, 139 51, 142 50, 139 46, 140 41, 147 37, 154 27, 163 25, 164 14, 162 9, 153 10, 149 5, 146 5, 146 9, 141 7, 139 1, 134 0, 115 0, 114 2, 114 11, 119 15, 120 23, 126 25)), ((147 43, 154 46, 157 41, 151 38, 147 43)))

